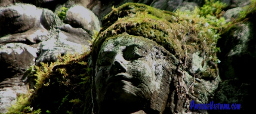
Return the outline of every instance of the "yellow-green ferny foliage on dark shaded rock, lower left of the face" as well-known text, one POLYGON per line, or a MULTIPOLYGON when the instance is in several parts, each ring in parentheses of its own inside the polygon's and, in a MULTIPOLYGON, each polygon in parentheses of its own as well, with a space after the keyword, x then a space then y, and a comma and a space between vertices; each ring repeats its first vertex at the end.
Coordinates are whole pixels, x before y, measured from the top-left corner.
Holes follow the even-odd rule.
POLYGON ((89 53, 67 54, 56 62, 31 66, 25 73, 31 92, 19 96, 7 114, 89 114, 88 57, 89 53))

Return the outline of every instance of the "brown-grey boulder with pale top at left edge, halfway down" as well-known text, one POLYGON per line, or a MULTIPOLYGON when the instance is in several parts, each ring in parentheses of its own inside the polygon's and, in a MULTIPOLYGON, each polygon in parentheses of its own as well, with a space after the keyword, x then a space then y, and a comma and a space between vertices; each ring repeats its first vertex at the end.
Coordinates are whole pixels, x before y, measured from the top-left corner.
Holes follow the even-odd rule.
POLYGON ((34 65, 37 49, 23 43, 0 45, 0 80, 22 75, 27 68, 34 65))

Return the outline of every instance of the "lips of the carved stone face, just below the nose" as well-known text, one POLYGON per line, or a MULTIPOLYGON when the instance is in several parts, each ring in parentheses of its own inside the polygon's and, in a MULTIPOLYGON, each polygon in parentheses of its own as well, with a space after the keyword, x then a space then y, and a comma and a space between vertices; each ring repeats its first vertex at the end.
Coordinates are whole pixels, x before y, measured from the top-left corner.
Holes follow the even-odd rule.
POLYGON ((133 76, 128 74, 128 73, 118 73, 114 76, 109 77, 106 80, 106 82, 111 83, 111 82, 114 82, 114 81, 121 81, 121 80, 130 81, 132 78, 133 78, 133 76))

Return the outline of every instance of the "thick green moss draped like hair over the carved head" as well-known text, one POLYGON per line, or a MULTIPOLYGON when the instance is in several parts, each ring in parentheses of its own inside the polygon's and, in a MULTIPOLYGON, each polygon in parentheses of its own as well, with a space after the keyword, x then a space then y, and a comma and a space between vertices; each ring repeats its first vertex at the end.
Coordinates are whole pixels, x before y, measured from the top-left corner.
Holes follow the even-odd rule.
POLYGON ((218 75, 216 42, 219 28, 216 26, 219 23, 209 25, 213 23, 213 19, 209 18, 213 17, 205 18, 197 13, 198 9, 185 14, 161 11, 139 3, 126 3, 113 8, 103 18, 102 30, 93 45, 93 53, 98 53, 105 39, 117 34, 145 37, 162 45, 182 62, 185 59, 192 60, 192 55, 199 52, 198 55, 203 59, 200 63, 207 65, 205 68, 208 73, 189 70, 193 66, 189 62, 186 69, 191 74, 197 74, 197 77, 213 80, 218 75))

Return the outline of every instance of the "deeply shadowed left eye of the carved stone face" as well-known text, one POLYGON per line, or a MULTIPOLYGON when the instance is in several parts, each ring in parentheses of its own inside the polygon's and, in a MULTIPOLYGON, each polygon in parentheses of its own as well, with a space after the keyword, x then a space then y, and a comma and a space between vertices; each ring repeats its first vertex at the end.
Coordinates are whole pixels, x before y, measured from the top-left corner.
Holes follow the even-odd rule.
POLYGON ((106 66, 111 65, 111 61, 115 55, 115 52, 112 51, 100 51, 98 56, 98 65, 99 66, 106 66))

